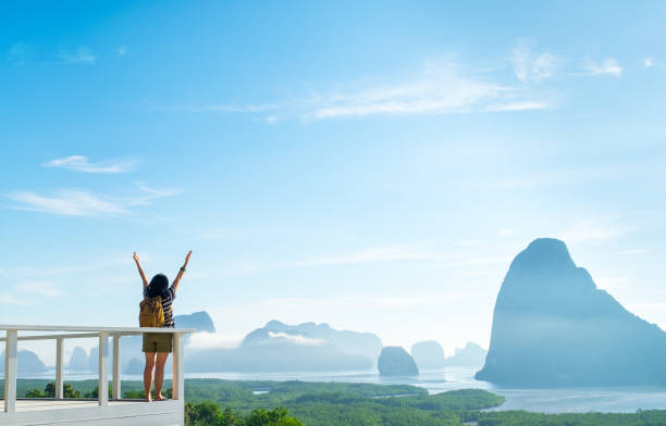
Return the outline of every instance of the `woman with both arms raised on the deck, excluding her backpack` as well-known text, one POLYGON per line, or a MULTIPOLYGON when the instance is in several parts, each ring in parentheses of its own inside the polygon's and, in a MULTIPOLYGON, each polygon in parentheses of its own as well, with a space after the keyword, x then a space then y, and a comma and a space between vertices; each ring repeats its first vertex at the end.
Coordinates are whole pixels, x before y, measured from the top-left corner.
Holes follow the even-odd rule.
MULTIPOLYGON (((146 279, 146 274, 144 274, 144 270, 141 270, 141 264, 139 263, 138 255, 136 252, 134 253, 134 261, 136 262, 136 267, 139 270, 139 275, 141 276, 141 280, 144 281, 144 298, 156 298, 160 297, 162 299, 162 310, 164 311, 164 325, 163 327, 175 327, 173 322, 173 309, 171 304, 173 303, 173 299, 175 299, 176 291, 178 290, 178 285, 181 284, 181 278, 185 273, 185 268, 187 267, 187 263, 189 262, 189 255, 192 254, 192 250, 187 253, 185 258, 185 263, 181 271, 178 271, 178 275, 173 280, 171 287, 169 287, 169 278, 166 278, 163 274, 157 274, 152 277, 150 283, 146 279)), ((155 400, 163 401, 164 397, 162 397, 162 383, 164 381, 164 364, 166 364, 166 359, 169 358, 169 353, 173 349, 173 335, 169 333, 145 333, 144 334, 144 353, 146 353, 146 368, 144 368, 144 389, 146 390, 146 401, 150 402, 150 388, 152 386, 152 368, 155 367, 155 400)))

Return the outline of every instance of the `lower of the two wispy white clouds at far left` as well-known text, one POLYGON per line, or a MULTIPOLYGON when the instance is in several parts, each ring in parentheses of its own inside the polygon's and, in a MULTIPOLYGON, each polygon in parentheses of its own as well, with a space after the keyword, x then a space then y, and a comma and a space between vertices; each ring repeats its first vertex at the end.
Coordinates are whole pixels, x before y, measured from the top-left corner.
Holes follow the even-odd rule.
POLYGON ((51 195, 14 191, 8 198, 17 202, 13 210, 51 213, 63 216, 119 216, 130 213, 136 205, 150 205, 152 201, 180 193, 173 189, 151 189, 138 185, 140 192, 130 196, 107 196, 86 189, 60 189, 51 195))

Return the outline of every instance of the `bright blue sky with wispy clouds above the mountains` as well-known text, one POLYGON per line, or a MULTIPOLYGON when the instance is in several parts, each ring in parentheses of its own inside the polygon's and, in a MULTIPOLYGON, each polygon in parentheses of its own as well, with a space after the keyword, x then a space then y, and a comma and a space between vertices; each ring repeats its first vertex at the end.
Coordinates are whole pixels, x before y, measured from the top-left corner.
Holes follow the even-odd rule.
POLYGON ((176 313, 488 346, 510 259, 563 238, 666 327, 666 8, 0 3, 1 323, 176 313))

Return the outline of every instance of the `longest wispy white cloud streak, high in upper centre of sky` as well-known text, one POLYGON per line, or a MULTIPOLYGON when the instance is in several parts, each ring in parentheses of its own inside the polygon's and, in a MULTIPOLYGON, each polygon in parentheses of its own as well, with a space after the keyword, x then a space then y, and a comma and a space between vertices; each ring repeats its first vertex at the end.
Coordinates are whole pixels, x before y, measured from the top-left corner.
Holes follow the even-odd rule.
MULTIPOLYGON (((532 60, 530 78, 542 79, 555 70, 555 58, 543 53, 532 60)), ((543 110, 553 101, 530 87, 511 87, 481 78, 455 61, 431 61, 419 71, 384 85, 350 84, 319 91, 307 99, 267 104, 210 104, 190 112, 267 113, 264 122, 299 117, 304 122, 371 115, 458 114, 543 110), (279 114, 274 113, 275 111, 279 114)))

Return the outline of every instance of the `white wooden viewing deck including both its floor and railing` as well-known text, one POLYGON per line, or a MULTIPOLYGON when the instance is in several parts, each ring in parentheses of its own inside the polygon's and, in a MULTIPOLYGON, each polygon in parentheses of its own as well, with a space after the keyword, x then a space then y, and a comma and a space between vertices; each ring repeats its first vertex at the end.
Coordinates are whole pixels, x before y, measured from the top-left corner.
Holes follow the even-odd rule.
POLYGON ((171 426, 185 423, 184 335, 190 328, 90 327, 52 325, 0 325, 4 336, 4 410, 1 426, 100 425, 171 426), (35 335, 36 331, 47 333, 35 335), (173 335, 173 400, 143 402, 123 400, 121 393, 121 338, 144 333, 173 335), (64 399, 64 340, 97 337, 98 399, 64 399), (109 339, 113 340, 112 396, 109 398, 109 339), (16 394, 17 347, 20 341, 55 341, 55 391, 53 399, 20 399, 16 394))

